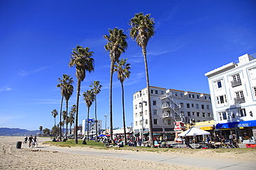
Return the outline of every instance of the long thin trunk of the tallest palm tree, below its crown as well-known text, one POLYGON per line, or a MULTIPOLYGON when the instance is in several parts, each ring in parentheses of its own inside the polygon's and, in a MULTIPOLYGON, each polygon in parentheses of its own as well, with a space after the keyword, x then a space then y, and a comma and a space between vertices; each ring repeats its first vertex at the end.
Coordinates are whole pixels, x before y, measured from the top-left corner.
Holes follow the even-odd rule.
POLYGON ((149 143, 150 147, 154 147, 154 141, 153 141, 153 126, 152 126, 152 114, 151 114, 151 101, 150 101, 150 89, 149 89, 149 73, 147 69, 147 51, 146 47, 143 47, 143 56, 144 56, 144 63, 145 63, 145 73, 147 78, 147 101, 149 105, 149 143))

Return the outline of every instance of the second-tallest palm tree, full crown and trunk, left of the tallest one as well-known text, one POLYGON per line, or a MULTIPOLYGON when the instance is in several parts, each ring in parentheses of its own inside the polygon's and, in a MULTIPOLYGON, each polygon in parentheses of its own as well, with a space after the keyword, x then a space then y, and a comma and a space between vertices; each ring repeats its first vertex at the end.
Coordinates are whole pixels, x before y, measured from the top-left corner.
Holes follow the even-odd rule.
POLYGON ((112 115, 112 79, 113 79, 113 65, 118 61, 119 57, 128 47, 127 35, 124 30, 118 28, 109 29, 109 34, 103 36, 107 39, 107 45, 104 45, 106 51, 109 52, 110 57, 110 83, 109 83, 109 124, 110 124, 110 139, 113 140, 113 115, 112 115))

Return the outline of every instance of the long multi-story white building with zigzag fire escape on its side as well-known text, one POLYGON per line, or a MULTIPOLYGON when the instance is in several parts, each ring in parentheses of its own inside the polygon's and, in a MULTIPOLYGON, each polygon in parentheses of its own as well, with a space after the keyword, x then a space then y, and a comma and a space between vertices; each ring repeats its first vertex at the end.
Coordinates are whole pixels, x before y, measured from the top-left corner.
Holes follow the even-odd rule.
MULTIPOLYGON (((174 138, 174 122, 212 120, 210 94, 185 92, 176 89, 150 87, 152 127, 154 134, 174 138)), ((134 133, 149 132, 147 88, 133 95, 134 133)))

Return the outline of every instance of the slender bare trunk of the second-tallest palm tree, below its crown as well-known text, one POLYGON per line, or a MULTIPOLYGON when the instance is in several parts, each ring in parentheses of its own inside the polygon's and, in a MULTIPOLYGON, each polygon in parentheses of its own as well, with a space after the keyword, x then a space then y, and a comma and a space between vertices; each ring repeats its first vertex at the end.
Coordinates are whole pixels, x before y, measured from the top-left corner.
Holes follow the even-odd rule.
POLYGON ((112 80, 113 80, 113 60, 111 59, 110 66, 110 85, 109 85, 109 129, 110 129, 110 140, 113 140, 113 118, 112 118, 112 80))

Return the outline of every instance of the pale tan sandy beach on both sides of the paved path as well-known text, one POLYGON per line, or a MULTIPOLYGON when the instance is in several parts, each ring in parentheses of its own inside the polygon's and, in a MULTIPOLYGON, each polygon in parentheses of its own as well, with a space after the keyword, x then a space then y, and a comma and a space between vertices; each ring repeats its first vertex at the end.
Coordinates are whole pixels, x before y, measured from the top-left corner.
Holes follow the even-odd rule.
MULTIPOLYGON (((22 136, 0 137, 0 169, 199 169, 161 162, 129 160, 106 156, 87 156, 40 149, 40 146, 43 146, 42 142, 51 140, 50 138, 39 138, 38 148, 30 149, 28 145, 22 145, 21 149, 17 149, 17 141, 22 141, 23 139, 24 137, 22 136)), ((216 156, 216 153, 212 153, 212 151, 207 149, 201 149, 201 152, 200 155, 205 155, 206 153, 208 156, 216 156)), ((180 154, 190 155, 189 152, 180 154)), ((219 153, 219 156, 223 158, 239 159, 242 157, 245 160, 256 160, 255 154, 256 151, 245 153, 242 156, 236 156, 233 153, 219 153)))

